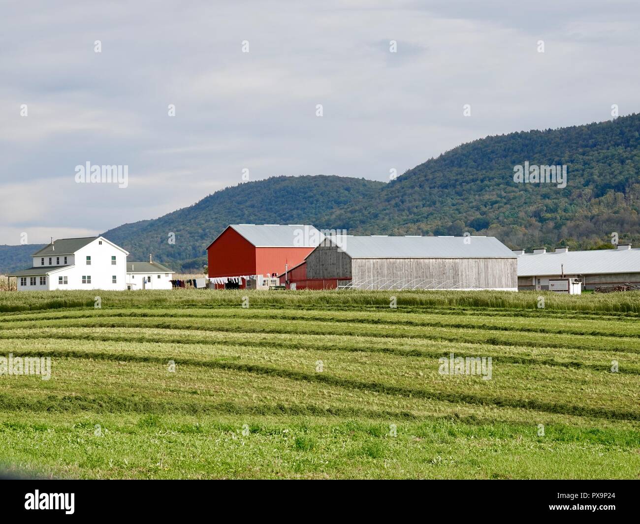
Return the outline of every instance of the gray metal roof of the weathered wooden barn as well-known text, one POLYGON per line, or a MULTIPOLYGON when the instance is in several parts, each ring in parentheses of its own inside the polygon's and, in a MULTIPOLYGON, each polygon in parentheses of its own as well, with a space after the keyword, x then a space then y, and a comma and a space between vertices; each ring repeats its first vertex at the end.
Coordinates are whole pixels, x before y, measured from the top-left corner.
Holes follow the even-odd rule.
POLYGON ((517 258, 495 237, 346 235, 337 243, 351 258, 517 258))

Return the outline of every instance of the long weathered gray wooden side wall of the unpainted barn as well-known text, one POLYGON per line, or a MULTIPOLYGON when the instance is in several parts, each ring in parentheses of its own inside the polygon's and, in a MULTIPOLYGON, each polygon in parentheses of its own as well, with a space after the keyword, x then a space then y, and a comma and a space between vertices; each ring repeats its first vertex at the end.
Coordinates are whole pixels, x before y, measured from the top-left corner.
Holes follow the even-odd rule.
POLYGON ((454 280, 482 288, 515 289, 517 269, 516 258, 355 258, 352 278, 354 283, 372 278, 454 280))

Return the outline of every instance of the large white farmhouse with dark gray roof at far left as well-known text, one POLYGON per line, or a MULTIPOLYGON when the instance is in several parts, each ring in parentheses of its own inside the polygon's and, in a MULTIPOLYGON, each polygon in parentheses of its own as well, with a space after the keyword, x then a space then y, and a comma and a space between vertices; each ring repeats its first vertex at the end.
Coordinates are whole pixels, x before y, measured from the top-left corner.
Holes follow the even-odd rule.
POLYGON ((60 239, 33 253, 33 267, 15 271, 19 291, 125 289, 128 251, 104 237, 60 239))

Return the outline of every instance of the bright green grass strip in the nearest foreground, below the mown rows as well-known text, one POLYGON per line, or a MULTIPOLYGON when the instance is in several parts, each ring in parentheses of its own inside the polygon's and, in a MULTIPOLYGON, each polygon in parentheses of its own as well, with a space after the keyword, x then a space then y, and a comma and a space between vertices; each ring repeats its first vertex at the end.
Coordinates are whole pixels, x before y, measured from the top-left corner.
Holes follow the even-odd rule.
POLYGON ((566 424, 545 430, 436 418, 398 420, 391 436, 387 421, 333 417, 27 413, 15 423, 0 413, 0 466, 125 479, 637 477, 637 434, 566 424))

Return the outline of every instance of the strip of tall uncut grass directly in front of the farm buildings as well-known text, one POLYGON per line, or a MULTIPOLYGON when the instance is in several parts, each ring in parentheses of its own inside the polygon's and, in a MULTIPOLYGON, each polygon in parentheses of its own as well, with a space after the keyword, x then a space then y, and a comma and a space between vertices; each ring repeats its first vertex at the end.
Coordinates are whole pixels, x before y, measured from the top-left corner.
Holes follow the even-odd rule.
POLYGON ((73 307, 92 307, 99 295, 106 306, 234 306, 243 296, 253 306, 313 306, 342 308, 345 306, 388 306, 390 296, 399 306, 506 308, 534 310, 538 297, 545 298, 548 310, 640 313, 640 298, 635 292, 559 295, 553 292, 500 291, 287 291, 260 292, 248 290, 140 290, 126 291, 51 291, 0 292, 0 311, 15 312, 73 307))

